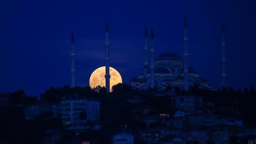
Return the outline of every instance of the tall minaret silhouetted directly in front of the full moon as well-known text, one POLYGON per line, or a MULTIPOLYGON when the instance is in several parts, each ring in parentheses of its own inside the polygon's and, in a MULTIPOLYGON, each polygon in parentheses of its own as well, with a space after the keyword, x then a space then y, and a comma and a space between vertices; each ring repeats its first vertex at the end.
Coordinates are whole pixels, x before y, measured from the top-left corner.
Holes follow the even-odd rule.
POLYGON ((105 64, 106 64, 106 74, 105 74, 105 80, 106 80, 106 89, 107 92, 110 92, 110 74, 109 74, 109 29, 108 29, 108 22, 106 21, 106 37, 105 37, 105 48, 106 48, 106 54, 105 54, 105 64))

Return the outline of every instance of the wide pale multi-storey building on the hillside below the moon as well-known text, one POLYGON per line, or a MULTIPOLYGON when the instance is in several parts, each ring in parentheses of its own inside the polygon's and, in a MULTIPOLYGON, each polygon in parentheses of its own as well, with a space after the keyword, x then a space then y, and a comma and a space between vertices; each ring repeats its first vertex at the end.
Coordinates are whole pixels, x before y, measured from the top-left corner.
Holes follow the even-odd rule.
POLYGON ((88 120, 100 119, 100 101, 88 101, 80 96, 64 96, 61 107, 61 119, 64 125, 80 125, 88 120))

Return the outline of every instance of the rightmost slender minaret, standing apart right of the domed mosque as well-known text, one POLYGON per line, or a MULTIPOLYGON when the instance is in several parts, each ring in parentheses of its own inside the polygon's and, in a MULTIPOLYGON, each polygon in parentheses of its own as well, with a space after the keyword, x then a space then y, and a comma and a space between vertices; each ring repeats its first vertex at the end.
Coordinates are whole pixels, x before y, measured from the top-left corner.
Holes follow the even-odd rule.
POLYGON ((224 22, 222 22, 222 42, 221 42, 221 51, 222 51, 222 58, 221 58, 221 65, 222 65, 222 73, 221 73, 221 80, 222 80, 222 87, 226 87, 226 58, 225 58, 225 26, 224 22))

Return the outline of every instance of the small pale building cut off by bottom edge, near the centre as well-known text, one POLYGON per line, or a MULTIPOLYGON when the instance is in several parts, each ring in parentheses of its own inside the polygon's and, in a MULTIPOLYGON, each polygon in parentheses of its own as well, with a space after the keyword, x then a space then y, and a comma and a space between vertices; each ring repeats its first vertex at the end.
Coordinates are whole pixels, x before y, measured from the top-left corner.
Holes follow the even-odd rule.
POLYGON ((133 144, 133 135, 128 133, 117 134, 113 137, 112 144, 133 144))

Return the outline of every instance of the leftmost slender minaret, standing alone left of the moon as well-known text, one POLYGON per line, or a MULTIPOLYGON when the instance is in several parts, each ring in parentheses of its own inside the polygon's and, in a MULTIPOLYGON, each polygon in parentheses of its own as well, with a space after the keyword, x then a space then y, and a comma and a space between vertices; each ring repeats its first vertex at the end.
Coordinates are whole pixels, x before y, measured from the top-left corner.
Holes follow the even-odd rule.
POLYGON ((71 53, 70 53, 70 59, 71 59, 71 87, 75 87, 75 39, 74 39, 74 33, 72 30, 71 33, 71 53))

